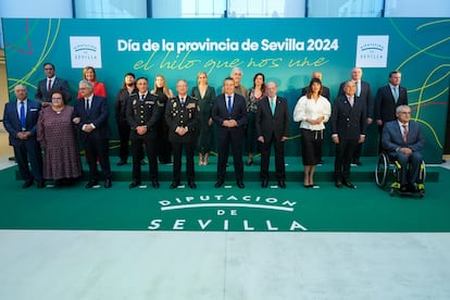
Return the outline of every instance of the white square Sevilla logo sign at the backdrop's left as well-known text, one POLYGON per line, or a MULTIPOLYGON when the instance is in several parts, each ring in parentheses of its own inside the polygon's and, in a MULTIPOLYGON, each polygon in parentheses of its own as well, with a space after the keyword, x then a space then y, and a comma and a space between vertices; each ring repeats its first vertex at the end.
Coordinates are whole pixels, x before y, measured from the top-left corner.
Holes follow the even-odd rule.
POLYGON ((70 37, 72 67, 101 67, 100 37, 70 37))

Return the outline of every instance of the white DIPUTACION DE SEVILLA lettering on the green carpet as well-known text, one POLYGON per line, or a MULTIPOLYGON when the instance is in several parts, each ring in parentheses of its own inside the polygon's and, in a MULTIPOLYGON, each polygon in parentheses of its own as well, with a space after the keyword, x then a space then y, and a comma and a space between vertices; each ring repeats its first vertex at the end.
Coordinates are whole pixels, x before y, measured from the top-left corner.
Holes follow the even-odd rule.
POLYGON ((292 215, 298 203, 267 196, 199 195, 163 199, 150 230, 305 232, 292 215))

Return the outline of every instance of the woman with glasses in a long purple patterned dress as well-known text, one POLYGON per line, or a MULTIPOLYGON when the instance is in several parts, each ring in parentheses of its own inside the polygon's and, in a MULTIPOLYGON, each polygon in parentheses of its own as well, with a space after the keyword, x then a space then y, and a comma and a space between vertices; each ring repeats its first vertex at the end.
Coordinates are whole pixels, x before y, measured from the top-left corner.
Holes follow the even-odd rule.
POLYGON ((43 149, 43 178, 53 179, 57 187, 71 184, 82 175, 72 107, 65 105, 65 93, 54 90, 51 105, 40 112, 37 139, 43 149))

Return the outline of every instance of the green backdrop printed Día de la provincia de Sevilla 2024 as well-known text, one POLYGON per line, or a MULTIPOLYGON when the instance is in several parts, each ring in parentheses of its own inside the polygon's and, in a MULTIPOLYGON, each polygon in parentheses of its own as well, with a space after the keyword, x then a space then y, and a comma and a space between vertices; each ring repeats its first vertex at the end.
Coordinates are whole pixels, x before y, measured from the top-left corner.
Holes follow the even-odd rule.
MULTIPOLYGON (((234 66, 243 71, 242 83, 262 72, 275 80, 290 110, 313 71, 337 96, 350 70, 362 66, 363 79, 378 87, 388 73, 402 72, 413 118, 426 135, 427 162, 440 162, 449 88, 450 20, 445 18, 221 18, 221 20, 2 20, 10 98, 17 84, 33 98, 43 78, 42 63, 52 62, 66 78, 73 96, 82 68, 93 65, 107 86, 111 113, 123 75, 134 72, 150 82, 157 74, 174 89, 178 78, 196 85, 207 71, 210 85, 220 91, 234 66), (379 39, 384 41, 379 41, 379 39), (388 39, 388 41, 386 40, 388 39), (71 43, 72 40, 72 43, 71 43), (360 40, 360 42, 359 42, 360 40)), ((73 100, 74 101, 74 100, 73 100)), ((333 100, 332 100, 333 101, 333 100)), ((113 117, 110 117, 116 137, 113 117)), ((291 123, 288 155, 300 154, 298 124, 291 123)), ((376 153, 377 130, 368 128, 363 154, 376 153)), ((326 139, 324 155, 333 155, 326 139)))

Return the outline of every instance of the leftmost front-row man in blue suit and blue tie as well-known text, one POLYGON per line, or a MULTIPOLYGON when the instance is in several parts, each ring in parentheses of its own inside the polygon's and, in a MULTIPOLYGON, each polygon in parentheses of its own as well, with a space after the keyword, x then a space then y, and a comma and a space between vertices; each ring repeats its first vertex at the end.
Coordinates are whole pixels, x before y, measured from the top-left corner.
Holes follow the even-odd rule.
POLYGON ((15 86, 14 93, 16 101, 4 105, 3 125, 10 134, 10 146, 14 149, 18 172, 25 180, 22 187, 28 188, 36 180, 37 187, 42 188, 42 157, 36 140, 40 104, 27 99, 28 93, 23 85, 15 86), (32 165, 32 172, 28 162, 32 165))

